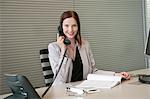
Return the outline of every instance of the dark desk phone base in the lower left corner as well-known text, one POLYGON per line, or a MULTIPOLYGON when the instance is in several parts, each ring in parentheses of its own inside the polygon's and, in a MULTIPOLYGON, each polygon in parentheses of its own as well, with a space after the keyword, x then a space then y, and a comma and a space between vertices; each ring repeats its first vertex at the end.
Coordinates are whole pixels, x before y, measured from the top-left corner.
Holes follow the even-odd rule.
POLYGON ((23 75, 5 74, 12 95, 4 99, 41 99, 29 80, 23 75))

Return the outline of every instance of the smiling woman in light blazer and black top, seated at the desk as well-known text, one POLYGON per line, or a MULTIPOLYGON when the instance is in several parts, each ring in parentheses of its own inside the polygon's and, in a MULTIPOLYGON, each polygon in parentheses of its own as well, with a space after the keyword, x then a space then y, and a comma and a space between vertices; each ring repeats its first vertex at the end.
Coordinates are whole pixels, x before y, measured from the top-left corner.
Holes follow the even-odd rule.
POLYGON ((130 79, 127 72, 115 73, 96 69, 90 45, 87 40, 81 38, 80 20, 75 11, 66 11, 61 15, 60 28, 64 36, 59 36, 57 42, 48 45, 49 60, 55 78, 54 84, 84 80, 89 73, 120 75, 130 79), (64 44, 65 38, 70 40, 70 45, 64 44))

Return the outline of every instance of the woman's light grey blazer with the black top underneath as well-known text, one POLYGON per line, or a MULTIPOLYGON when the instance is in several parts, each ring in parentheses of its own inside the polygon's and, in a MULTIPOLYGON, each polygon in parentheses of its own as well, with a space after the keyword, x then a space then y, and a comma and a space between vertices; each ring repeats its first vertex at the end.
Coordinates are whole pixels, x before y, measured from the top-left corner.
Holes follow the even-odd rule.
POLYGON ((48 56, 52 67, 52 71, 54 73, 54 77, 58 72, 58 75, 55 78, 53 84, 68 83, 71 81, 76 81, 78 79, 79 80, 86 79, 89 73, 114 75, 114 72, 98 70, 95 67, 95 60, 89 42, 87 40, 82 39, 82 46, 79 46, 77 42, 75 46, 76 46, 75 60, 73 61, 66 54, 62 66, 60 68, 60 71, 58 72, 58 68, 63 58, 63 55, 61 54, 61 48, 59 47, 57 42, 52 42, 48 45, 49 51, 48 56), (79 65, 79 67, 76 67, 77 65, 79 65), (80 78, 79 76, 75 78, 78 75, 83 77, 80 78))

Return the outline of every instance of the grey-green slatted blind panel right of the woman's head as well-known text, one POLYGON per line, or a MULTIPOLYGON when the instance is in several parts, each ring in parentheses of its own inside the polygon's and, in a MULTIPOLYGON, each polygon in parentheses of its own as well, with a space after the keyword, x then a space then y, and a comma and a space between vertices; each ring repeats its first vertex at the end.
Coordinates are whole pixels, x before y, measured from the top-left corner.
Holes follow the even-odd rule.
POLYGON ((97 68, 129 71, 145 68, 144 0, 75 0, 82 34, 88 38, 97 68))

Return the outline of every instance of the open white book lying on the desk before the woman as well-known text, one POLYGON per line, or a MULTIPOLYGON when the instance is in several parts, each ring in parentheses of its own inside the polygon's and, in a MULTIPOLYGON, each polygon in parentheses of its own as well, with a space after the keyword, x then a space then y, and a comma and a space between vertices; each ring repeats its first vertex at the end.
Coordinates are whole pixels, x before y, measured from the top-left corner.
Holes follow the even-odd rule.
POLYGON ((87 80, 84 80, 75 88, 82 89, 84 91, 95 91, 97 89, 110 89, 121 83, 120 76, 112 75, 100 75, 100 74, 88 74, 87 80))

